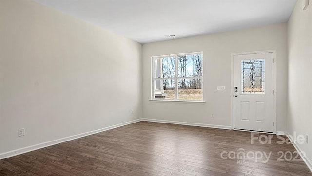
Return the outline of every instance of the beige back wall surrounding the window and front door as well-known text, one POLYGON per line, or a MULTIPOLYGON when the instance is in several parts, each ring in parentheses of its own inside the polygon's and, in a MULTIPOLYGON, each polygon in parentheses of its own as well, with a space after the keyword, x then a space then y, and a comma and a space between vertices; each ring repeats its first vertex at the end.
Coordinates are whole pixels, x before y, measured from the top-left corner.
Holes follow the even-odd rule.
POLYGON ((231 126, 231 53, 276 50, 277 130, 286 131, 287 24, 143 44, 143 118, 231 126), (163 103, 151 98, 151 57, 203 51, 205 104, 163 103), (217 91, 225 86, 225 91, 217 91), (210 114, 215 117, 211 118, 210 114))

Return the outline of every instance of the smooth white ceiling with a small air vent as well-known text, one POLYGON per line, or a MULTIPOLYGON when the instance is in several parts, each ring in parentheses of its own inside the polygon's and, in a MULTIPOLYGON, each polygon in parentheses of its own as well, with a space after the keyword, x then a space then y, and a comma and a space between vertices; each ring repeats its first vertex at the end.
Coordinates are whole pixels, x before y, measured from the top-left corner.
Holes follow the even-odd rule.
POLYGON ((118 35, 149 43, 286 22, 297 0, 36 1, 118 35))

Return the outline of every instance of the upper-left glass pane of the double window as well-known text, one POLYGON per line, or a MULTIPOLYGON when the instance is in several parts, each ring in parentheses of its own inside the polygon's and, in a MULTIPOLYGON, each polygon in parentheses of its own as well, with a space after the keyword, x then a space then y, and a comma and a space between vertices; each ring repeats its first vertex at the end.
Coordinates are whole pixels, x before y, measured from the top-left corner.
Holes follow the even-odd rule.
POLYGON ((175 72, 175 57, 154 58, 155 78, 172 78, 175 72))

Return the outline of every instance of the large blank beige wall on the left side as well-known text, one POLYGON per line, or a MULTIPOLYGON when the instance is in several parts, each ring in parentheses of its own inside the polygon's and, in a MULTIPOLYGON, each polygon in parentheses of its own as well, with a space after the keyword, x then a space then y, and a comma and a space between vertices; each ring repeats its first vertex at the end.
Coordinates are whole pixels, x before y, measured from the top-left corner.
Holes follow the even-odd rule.
POLYGON ((140 56, 137 42, 32 0, 0 0, 0 158, 141 118, 140 56))

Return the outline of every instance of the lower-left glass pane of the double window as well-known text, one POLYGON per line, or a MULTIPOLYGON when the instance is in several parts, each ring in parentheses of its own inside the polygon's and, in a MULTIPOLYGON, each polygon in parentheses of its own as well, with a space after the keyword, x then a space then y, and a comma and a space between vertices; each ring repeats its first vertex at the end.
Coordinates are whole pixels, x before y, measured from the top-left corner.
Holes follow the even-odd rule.
POLYGON ((175 99, 175 80, 161 79, 154 82, 154 95, 156 99, 175 99))

